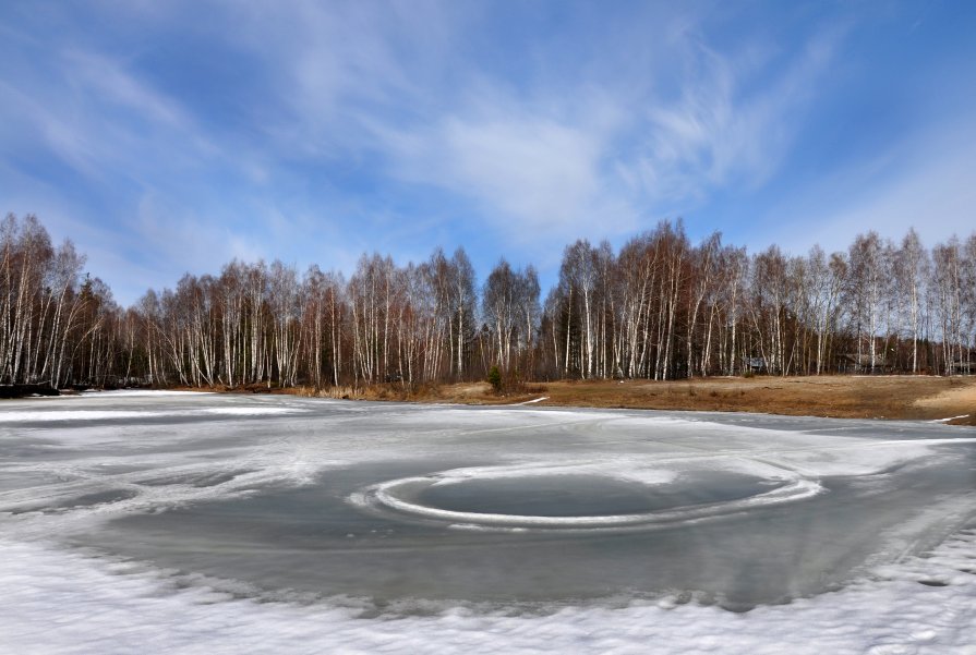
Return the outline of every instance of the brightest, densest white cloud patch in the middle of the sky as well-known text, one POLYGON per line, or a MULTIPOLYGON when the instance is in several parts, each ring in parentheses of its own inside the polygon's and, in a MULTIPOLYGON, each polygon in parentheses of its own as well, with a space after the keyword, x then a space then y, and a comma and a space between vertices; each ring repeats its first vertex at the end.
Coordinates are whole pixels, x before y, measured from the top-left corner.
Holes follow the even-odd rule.
POLYGON ((604 201, 606 136, 491 94, 423 131, 385 131, 383 142, 394 174, 474 199, 481 221, 518 241, 588 227, 604 201))

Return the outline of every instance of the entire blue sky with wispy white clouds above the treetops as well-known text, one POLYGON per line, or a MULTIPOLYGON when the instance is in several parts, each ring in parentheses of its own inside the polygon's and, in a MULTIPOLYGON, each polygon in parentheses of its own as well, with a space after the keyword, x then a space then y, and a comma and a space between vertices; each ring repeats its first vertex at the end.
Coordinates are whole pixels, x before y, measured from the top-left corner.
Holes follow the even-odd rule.
POLYGON ((233 257, 462 245, 543 289, 682 217, 750 251, 976 229, 976 3, 0 4, 0 211, 124 304, 233 257))

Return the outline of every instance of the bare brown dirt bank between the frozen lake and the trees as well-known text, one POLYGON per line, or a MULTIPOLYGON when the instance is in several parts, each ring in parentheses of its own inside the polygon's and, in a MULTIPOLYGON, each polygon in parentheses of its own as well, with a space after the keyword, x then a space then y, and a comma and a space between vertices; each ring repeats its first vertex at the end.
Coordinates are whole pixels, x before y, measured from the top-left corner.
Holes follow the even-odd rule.
POLYGON ((763 412, 848 419, 947 420, 976 425, 976 377, 714 377, 677 381, 594 380, 529 385, 497 397, 487 383, 442 386, 421 402, 763 412))

